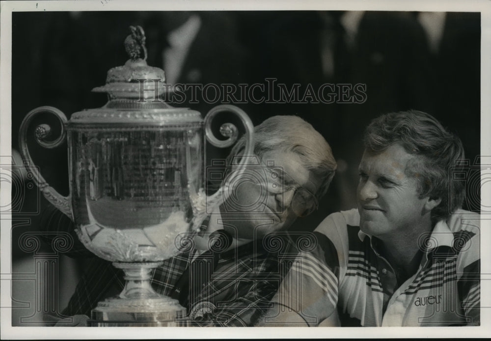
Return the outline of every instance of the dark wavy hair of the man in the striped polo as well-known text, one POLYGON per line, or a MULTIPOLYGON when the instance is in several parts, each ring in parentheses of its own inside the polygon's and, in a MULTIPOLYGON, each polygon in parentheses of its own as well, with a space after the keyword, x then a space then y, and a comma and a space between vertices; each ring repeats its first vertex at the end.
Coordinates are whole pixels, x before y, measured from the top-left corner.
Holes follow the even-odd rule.
POLYGON ((364 143, 372 153, 381 153, 390 145, 400 143, 409 154, 418 156, 406 172, 417 177, 421 197, 441 198, 432 211, 433 222, 448 218, 462 207, 464 183, 455 181, 450 186, 449 170, 457 165, 457 160, 464 159, 464 147, 432 115, 415 110, 384 114, 366 128, 364 143))

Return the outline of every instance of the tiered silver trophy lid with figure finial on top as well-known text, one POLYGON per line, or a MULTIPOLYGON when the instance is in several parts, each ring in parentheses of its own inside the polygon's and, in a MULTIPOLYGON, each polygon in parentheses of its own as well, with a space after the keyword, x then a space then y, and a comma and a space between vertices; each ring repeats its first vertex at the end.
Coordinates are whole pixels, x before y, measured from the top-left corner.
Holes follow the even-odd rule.
POLYGON ((189 108, 174 108, 161 96, 171 92, 165 84, 164 70, 148 66, 145 33, 140 26, 130 26, 132 33, 124 45, 130 59, 123 66, 108 71, 106 85, 92 89, 106 92, 109 102, 102 108, 72 115, 69 123, 184 123, 202 122, 201 114, 189 108))

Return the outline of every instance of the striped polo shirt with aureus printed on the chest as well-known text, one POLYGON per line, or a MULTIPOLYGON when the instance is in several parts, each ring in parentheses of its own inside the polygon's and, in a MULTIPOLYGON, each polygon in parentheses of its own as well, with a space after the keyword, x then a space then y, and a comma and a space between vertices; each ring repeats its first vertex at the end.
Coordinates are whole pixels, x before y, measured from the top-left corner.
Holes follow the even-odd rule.
MULTIPOLYGON (((378 239, 360 230, 358 211, 333 213, 314 231, 316 248, 297 257, 272 302, 309 326, 337 317, 342 326, 479 325, 479 219, 460 210, 438 222, 421 236, 418 270, 398 285, 377 252, 378 239)), ((282 316, 286 321, 288 314, 275 321, 282 316)))

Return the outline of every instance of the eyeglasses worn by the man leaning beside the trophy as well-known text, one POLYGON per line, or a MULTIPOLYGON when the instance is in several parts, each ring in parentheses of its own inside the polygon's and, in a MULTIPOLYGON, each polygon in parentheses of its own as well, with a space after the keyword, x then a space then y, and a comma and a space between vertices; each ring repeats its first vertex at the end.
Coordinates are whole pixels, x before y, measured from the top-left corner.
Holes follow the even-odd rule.
POLYGON ((305 217, 314 212, 319 207, 319 202, 314 194, 306 188, 301 187, 288 173, 279 167, 264 167, 267 179, 266 186, 268 192, 278 195, 285 195, 289 191, 295 191, 290 202, 293 212, 298 217, 305 217))

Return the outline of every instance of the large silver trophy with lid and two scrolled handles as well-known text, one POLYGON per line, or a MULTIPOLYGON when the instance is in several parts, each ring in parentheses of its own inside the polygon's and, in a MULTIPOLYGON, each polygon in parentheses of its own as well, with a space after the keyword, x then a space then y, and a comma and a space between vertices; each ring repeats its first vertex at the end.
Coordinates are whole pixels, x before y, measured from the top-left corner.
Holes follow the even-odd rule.
POLYGON ((231 105, 215 107, 203 120, 199 112, 162 101, 169 91, 164 71, 147 65, 144 32, 140 27, 131 29, 125 40, 130 59, 109 70, 106 85, 92 90, 108 93, 108 103, 72 114, 70 121, 53 107, 36 108, 22 122, 19 144, 45 198, 75 222, 83 245, 125 273, 123 291, 99 302, 89 325, 186 325, 186 309, 152 288, 152 270, 189 246, 192 233, 206 218, 205 206, 218 205, 227 193, 218 190, 206 197, 203 190, 205 135, 218 147, 228 147, 238 137, 237 128, 226 123, 220 132, 227 139, 216 138, 211 129, 215 115, 230 112, 240 117, 246 155, 253 149, 253 126, 241 109, 231 105), (40 124, 34 129, 35 138, 54 148, 67 136, 68 197, 57 193, 32 167, 28 128, 34 117, 46 112, 61 121, 61 134, 48 140, 51 128, 40 124))

